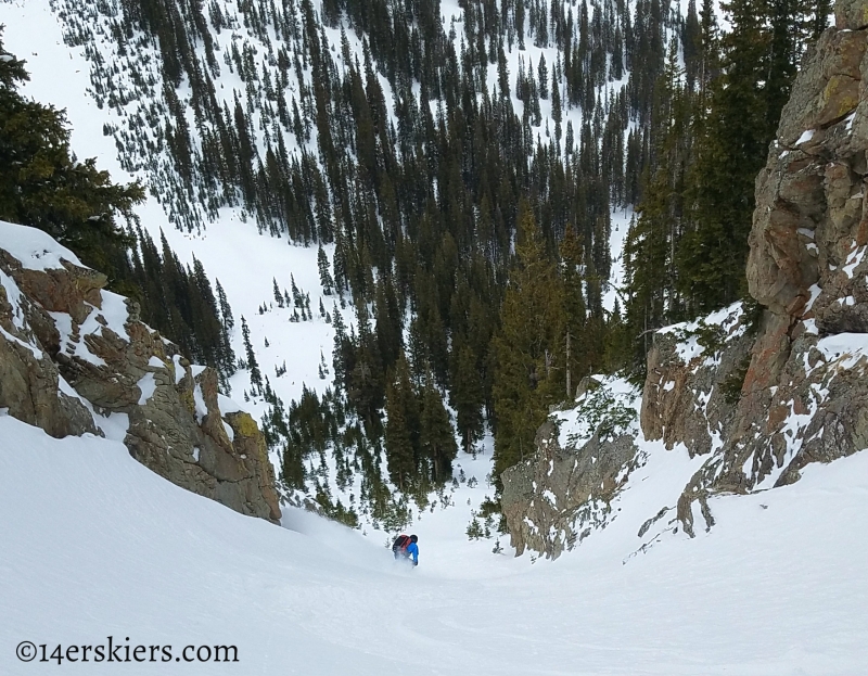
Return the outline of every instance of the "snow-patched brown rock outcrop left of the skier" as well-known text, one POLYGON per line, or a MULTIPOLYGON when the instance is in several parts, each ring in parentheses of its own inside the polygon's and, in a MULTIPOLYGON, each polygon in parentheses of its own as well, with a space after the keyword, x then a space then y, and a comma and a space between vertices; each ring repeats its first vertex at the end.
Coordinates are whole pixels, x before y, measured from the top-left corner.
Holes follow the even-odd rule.
POLYGON ((0 410, 52 436, 116 437, 173 483, 277 522, 256 423, 105 282, 44 233, 0 224, 0 410))

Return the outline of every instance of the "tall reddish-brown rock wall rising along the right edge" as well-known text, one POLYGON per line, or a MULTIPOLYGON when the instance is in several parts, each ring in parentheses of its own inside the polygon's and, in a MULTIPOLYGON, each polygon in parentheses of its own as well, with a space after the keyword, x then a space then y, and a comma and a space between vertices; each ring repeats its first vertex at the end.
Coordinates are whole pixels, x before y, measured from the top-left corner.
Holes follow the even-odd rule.
POLYGON ((726 443, 679 500, 688 532, 706 495, 792 483, 868 447, 866 12, 838 3, 756 179, 748 282, 765 313, 726 443))

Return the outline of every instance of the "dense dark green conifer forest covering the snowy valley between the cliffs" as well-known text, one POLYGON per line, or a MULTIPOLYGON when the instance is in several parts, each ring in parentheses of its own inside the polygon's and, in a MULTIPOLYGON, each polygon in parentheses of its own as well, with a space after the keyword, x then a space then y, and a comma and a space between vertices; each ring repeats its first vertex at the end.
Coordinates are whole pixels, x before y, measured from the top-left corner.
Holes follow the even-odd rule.
POLYGON ((234 396, 267 401, 283 489, 350 525, 399 528, 488 433, 496 520, 501 473, 585 377, 641 382, 655 329, 750 305, 754 180, 831 11, 450 3, 52 0, 129 184, 79 162, 63 112, 18 92, 26 63, 0 61, 0 219, 108 275, 225 391, 248 370, 234 396), (232 207, 317 252, 320 289, 286 270, 259 311, 333 326, 320 383, 276 394, 220 271, 142 229, 145 194, 182 231, 232 207), (355 505, 327 456, 339 487, 362 476, 355 505))

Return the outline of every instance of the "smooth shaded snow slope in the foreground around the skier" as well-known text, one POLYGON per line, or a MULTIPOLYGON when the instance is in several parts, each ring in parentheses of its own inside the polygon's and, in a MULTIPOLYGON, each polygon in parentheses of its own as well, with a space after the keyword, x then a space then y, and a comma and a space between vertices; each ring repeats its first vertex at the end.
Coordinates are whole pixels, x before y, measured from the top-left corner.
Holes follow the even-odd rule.
POLYGON ((238 647, 238 663, 184 674, 853 675, 868 660, 868 454, 716 498, 712 535, 622 564, 640 503, 687 462, 652 454, 593 548, 529 566, 422 537, 410 571, 310 514, 279 528, 179 489, 116 442, 56 441, 8 416, 0 439, 2 674, 169 671, 13 654, 108 636, 173 659, 238 647))

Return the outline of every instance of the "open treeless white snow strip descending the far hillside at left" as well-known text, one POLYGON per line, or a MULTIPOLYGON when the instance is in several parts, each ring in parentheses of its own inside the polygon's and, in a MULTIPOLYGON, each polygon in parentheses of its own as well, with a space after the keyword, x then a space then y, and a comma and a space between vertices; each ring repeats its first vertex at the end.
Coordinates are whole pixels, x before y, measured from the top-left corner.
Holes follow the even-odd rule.
MULTIPOLYGON (((90 87, 90 64, 79 49, 63 42, 60 20, 52 13, 49 0, 11 0, 0 2, 0 24, 5 24, 5 49, 27 61, 30 81, 22 91, 37 101, 64 109, 72 127, 71 146, 80 156, 97 157, 98 166, 111 173, 116 181, 131 181, 117 158, 117 149, 111 137, 103 135, 103 124, 112 119, 107 110, 99 110, 87 94, 90 87)), ((142 177, 145 178, 145 177, 142 177)), ((331 365, 333 330, 318 317, 321 296, 316 247, 290 245, 286 238, 259 234, 256 226, 242 222, 235 209, 225 208, 220 217, 202 233, 177 230, 168 220, 163 207, 153 196, 137 207, 142 226, 158 242, 161 231, 182 262, 192 264, 195 255, 214 279, 219 279, 226 290, 237 327, 232 347, 238 356, 244 355, 240 318, 250 324, 254 349, 263 375, 268 375, 275 392, 289 403, 302 393, 302 383, 324 387, 331 383, 319 380, 320 352, 331 365), (292 308, 258 314, 258 307, 275 302, 272 279, 281 290, 290 290, 291 275, 302 292, 310 294, 315 319, 309 322, 289 323, 292 308), (268 339, 270 348, 265 347, 268 339), (275 367, 286 361, 286 375, 277 379, 275 367)), ((333 246, 327 246, 331 256, 333 246)), ((326 309, 332 311, 334 297, 322 296, 326 309)), ((347 322, 352 310, 345 311, 347 322)), ((232 380, 233 397, 243 398, 250 387, 250 375, 240 372, 232 380)), ((246 407, 255 418, 265 412, 265 405, 252 403, 246 407)))

